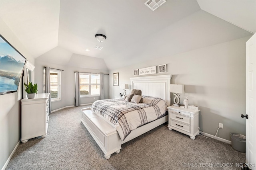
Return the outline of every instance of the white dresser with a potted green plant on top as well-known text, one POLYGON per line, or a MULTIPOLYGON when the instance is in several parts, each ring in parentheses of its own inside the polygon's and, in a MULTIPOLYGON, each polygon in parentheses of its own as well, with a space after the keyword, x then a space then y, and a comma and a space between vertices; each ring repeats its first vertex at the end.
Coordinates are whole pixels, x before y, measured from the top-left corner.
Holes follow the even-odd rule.
POLYGON ((36 94, 34 99, 21 100, 21 142, 46 137, 49 121, 49 93, 36 94))

